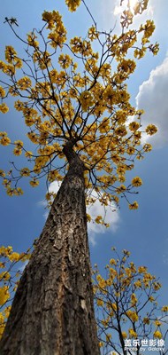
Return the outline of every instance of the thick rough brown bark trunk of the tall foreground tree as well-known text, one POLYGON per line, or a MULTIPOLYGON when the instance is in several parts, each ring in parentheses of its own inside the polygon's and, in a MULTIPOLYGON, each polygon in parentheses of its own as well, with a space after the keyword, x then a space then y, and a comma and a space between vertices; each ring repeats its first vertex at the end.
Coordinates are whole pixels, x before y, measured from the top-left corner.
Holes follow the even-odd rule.
POLYGON ((88 250, 84 165, 69 170, 19 281, 1 355, 98 355, 88 250))

